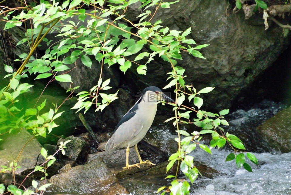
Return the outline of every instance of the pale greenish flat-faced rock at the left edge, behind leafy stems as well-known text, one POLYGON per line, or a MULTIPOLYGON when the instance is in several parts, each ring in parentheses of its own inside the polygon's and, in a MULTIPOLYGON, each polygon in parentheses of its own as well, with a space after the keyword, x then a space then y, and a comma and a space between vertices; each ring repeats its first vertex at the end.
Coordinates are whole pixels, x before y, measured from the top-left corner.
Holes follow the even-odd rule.
POLYGON ((45 159, 40 155, 42 146, 36 139, 32 139, 32 135, 26 130, 21 130, 18 133, 6 133, 0 138, 3 140, 0 142, 0 165, 9 167, 13 160, 17 160, 18 154, 25 146, 17 161, 17 166, 21 166, 21 168, 15 171, 16 174, 26 173, 44 162, 45 159), (30 141, 26 143, 28 140, 30 141))

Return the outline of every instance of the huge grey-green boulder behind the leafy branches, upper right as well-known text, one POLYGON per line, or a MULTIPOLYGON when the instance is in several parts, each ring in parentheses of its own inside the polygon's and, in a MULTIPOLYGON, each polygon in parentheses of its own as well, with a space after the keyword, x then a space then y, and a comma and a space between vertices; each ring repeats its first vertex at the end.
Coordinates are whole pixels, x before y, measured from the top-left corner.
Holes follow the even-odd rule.
MULTIPOLYGON (((183 61, 177 63, 186 69, 186 83, 196 89, 216 87, 203 97, 203 109, 230 108, 242 89, 271 66, 289 44, 290 36, 284 37, 277 25, 271 23, 265 31, 260 14, 245 20, 242 12, 233 14, 231 8, 229 1, 221 0, 178 2, 171 8, 159 9, 154 17, 170 29, 185 31, 191 27, 189 37, 198 45, 210 44, 200 50, 206 59, 182 53, 183 61)), ((171 69, 167 62, 156 59, 147 67, 146 76, 138 75, 134 69, 125 73, 132 89, 142 90, 150 85, 162 88, 168 83, 166 73, 171 69)))

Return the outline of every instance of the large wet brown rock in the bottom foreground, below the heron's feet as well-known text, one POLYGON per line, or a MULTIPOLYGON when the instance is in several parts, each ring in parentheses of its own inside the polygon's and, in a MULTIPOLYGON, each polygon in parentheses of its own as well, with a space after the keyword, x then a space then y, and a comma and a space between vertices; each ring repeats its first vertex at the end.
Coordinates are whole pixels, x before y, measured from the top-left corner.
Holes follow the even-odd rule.
POLYGON ((85 165, 72 167, 65 173, 52 176, 47 193, 67 194, 127 194, 112 173, 107 169, 102 159, 85 165))

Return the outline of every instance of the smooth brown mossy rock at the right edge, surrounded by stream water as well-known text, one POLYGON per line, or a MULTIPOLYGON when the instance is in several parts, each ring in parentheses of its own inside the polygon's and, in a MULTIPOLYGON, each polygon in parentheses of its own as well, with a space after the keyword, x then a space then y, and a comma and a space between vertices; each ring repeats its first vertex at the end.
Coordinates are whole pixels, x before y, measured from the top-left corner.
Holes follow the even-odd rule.
POLYGON ((258 126, 264 140, 283 153, 291 151, 291 107, 281 110, 258 126))

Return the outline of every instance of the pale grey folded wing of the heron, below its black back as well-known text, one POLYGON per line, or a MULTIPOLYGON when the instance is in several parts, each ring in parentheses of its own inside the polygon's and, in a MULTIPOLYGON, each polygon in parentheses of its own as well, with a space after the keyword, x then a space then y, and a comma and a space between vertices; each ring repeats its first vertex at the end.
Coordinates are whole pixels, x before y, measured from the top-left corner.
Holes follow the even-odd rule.
MULTIPOLYGON (((137 115, 134 115, 131 119, 122 123, 117 129, 115 129, 112 137, 105 145, 105 151, 107 153, 112 153, 115 149, 122 147, 122 144, 134 139, 134 137, 142 130, 142 127, 142 120, 137 115)), ((127 145, 123 147, 127 147, 127 145)))

